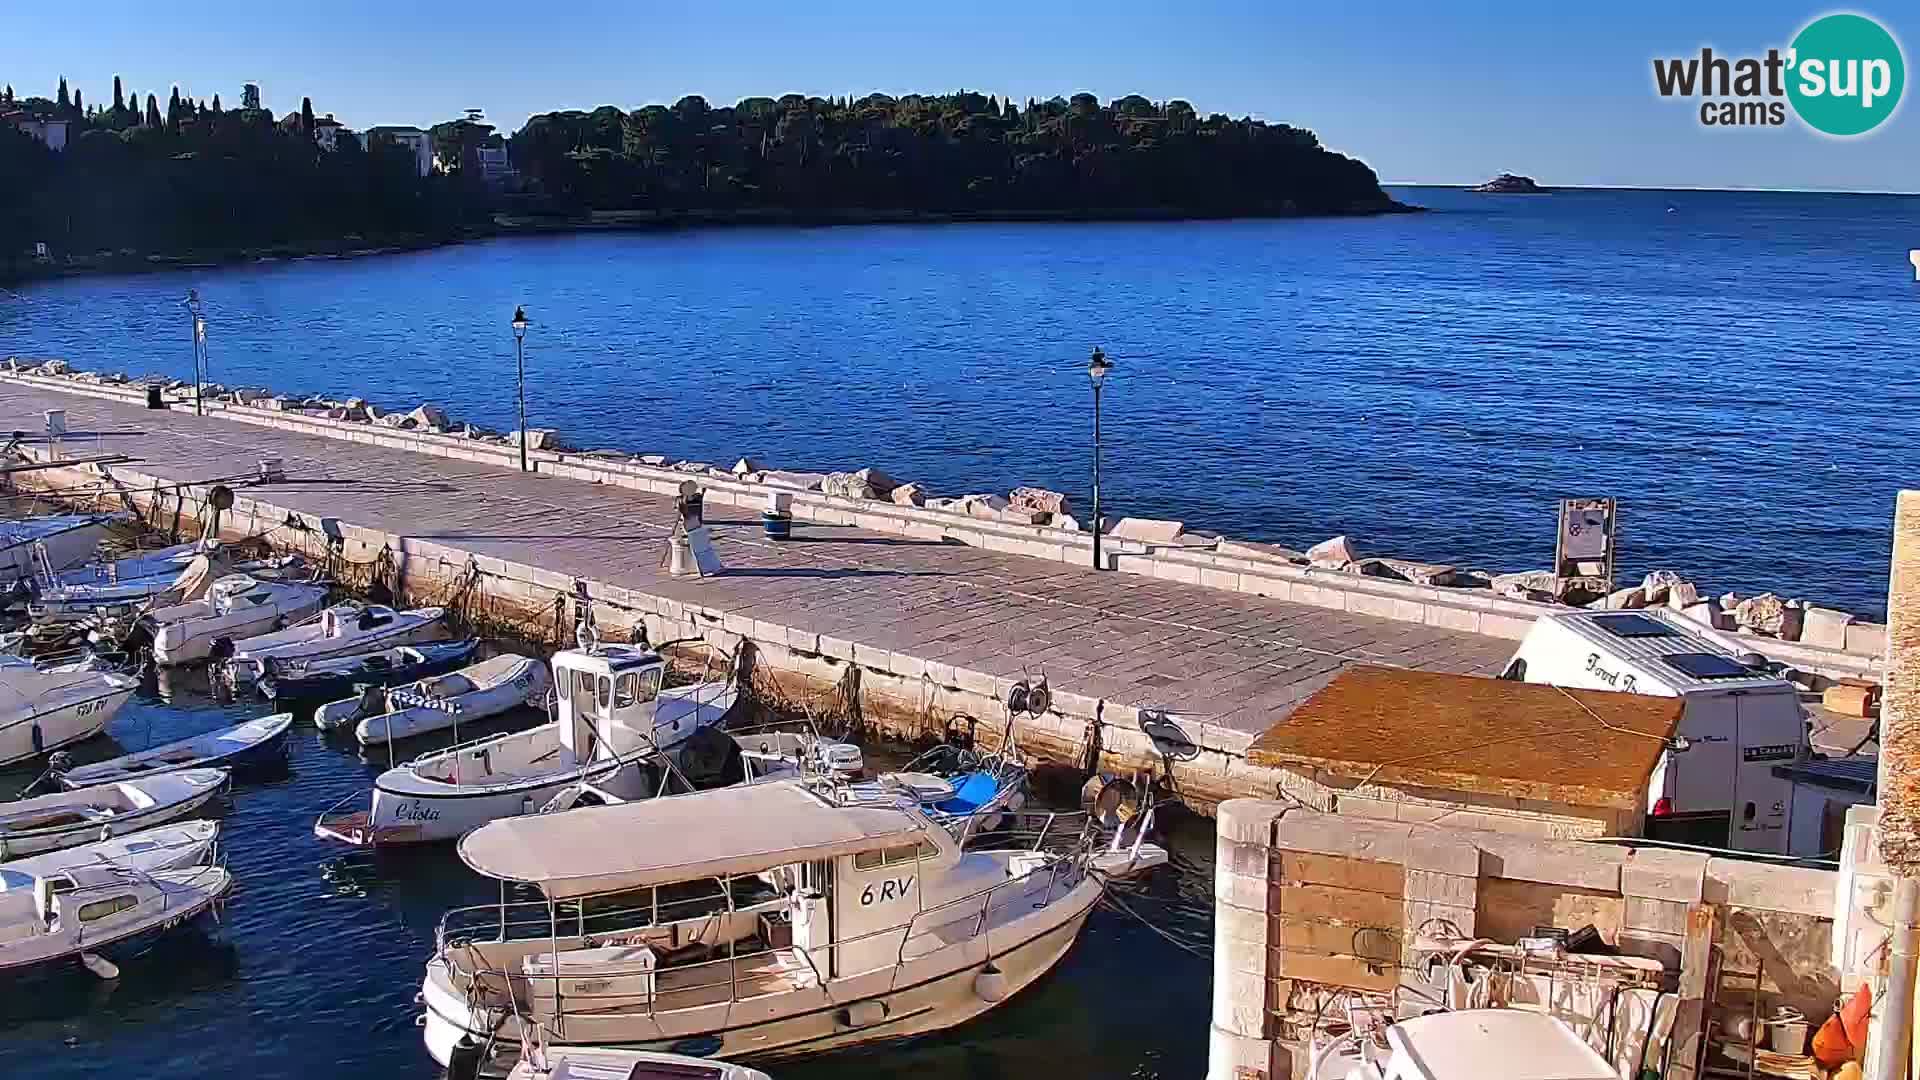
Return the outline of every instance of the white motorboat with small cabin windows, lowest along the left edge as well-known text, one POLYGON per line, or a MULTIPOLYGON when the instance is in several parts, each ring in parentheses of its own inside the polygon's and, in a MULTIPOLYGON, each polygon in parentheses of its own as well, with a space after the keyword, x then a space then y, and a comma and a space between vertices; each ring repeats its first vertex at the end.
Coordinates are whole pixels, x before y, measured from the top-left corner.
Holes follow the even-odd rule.
POLYGON ((104 865, 50 874, 0 867, 0 974, 79 961, 115 978, 119 963, 213 913, 230 888, 223 867, 138 872, 104 865))

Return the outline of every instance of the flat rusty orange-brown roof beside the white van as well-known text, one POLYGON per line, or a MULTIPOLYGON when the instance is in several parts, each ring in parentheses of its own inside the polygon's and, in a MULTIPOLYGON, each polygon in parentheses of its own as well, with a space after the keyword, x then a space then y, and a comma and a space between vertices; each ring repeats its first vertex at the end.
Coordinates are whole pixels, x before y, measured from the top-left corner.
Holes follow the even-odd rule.
POLYGON ((1254 740, 1254 765, 1634 809, 1682 698, 1356 665, 1254 740))

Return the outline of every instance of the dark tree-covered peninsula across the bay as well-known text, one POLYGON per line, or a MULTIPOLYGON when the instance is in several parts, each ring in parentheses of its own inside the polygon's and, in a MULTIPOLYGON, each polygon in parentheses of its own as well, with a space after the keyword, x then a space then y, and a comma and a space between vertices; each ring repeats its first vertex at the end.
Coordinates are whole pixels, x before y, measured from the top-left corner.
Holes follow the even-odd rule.
POLYGON ((1306 129, 1091 94, 745 98, 355 133, 182 96, 0 92, 0 275, 436 244, 515 229, 1400 209, 1306 129), (415 142, 407 142, 415 138, 415 142))

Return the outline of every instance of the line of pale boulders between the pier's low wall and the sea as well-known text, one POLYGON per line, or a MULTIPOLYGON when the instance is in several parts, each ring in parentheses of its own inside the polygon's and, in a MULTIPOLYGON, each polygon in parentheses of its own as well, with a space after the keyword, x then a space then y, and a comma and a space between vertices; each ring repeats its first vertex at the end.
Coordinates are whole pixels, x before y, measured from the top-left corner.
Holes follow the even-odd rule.
MULTIPOLYGON (((6 357, 0 361, 0 369, 63 377, 75 382, 94 384, 138 382, 136 379, 121 373, 102 375, 92 371, 75 371, 61 359, 23 361, 19 357, 6 357)), ((192 400, 192 384, 184 380, 167 380, 161 384, 161 394, 173 402, 188 402, 192 400)), ((227 388, 219 384, 207 384, 205 394, 213 400, 236 405, 474 440, 490 446, 513 448, 522 440, 520 432, 497 432, 474 423, 455 421, 440 405, 424 402, 401 411, 386 409, 357 396, 301 398, 276 394, 269 388, 227 388)), ((682 461, 664 454, 582 450, 568 444, 555 429, 528 429, 524 432, 524 440, 528 450, 572 454, 605 461, 630 461, 653 469, 685 473, 689 479, 714 477, 764 484, 770 496, 780 492, 820 492, 847 500, 939 509, 1002 525, 1058 528, 1069 534, 1085 532, 1092 525, 1075 513, 1068 494, 1046 488, 1020 486, 1004 494, 973 492, 962 496, 939 496, 925 484, 897 480, 876 467, 814 473, 778 469, 756 457, 739 457, 733 465, 718 465, 710 461, 682 461)), ((1668 611, 1697 623, 1705 630, 1716 630, 1722 634, 1797 642, 1855 655, 1885 653, 1885 626, 1860 619, 1851 611, 1826 607, 1809 600, 1784 598, 1772 592, 1763 592, 1759 596, 1722 592, 1715 596, 1707 588, 1674 571, 1653 571, 1640 582, 1603 590, 1601 582, 1594 578, 1559 578, 1553 571, 1496 573, 1478 567, 1455 567, 1448 563, 1373 555, 1363 552, 1361 544, 1350 536, 1334 536, 1313 544, 1311 548, 1296 550, 1284 544, 1233 540, 1187 528, 1187 523, 1183 521, 1148 517, 1102 517, 1100 530, 1116 542, 1133 542, 1150 548, 1206 550, 1227 557, 1284 563, 1321 573, 1331 571, 1427 586, 1448 594, 1457 592, 1463 598, 1480 594, 1551 603, 1569 609, 1588 607, 1605 611, 1667 607, 1668 611)))

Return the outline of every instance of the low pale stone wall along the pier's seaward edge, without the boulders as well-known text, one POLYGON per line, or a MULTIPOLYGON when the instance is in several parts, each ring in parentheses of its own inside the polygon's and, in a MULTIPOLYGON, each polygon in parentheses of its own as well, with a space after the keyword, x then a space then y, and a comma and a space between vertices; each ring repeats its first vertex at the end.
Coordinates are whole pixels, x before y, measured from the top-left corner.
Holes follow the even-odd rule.
MULTIPOLYGON (((60 361, 52 363, 58 365, 60 361)), ((146 396, 144 388, 106 382, 102 377, 88 373, 63 371, 48 375, 36 369, 23 369, 0 371, 0 377, 52 386, 61 392, 123 402, 142 402, 146 396)), ((336 419, 326 415, 326 409, 267 407, 273 404, 276 402, 207 402, 205 407, 219 409, 227 419, 282 430, 499 467, 518 467, 518 448, 515 444, 503 442, 497 436, 492 440, 478 438, 470 434, 470 429, 436 432, 432 429, 382 427, 378 423, 336 419)), ((735 469, 720 469, 707 463, 668 463, 657 455, 649 463, 647 455, 622 452, 574 454, 557 450, 528 450, 528 461, 540 473, 657 494, 672 494, 684 480, 697 479, 710 507, 743 507, 758 513, 766 505, 768 496, 778 494, 799 521, 847 525, 920 540, 948 540, 1035 559, 1092 563, 1092 536, 1089 532, 1077 527, 1035 525, 1033 519, 1044 515, 1004 513, 998 505, 985 502, 987 496, 931 500, 933 503, 948 505, 914 505, 912 502, 899 503, 887 498, 826 494, 824 490, 814 490, 820 486, 820 479, 812 475, 768 471, 756 467, 758 463, 755 461, 741 461, 735 469)), ((1006 500, 998 500, 998 503, 1006 503, 1006 500)), ((1306 555, 1273 544, 1236 544, 1219 536, 1190 534, 1177 521, 1123 519, 1102 540, 1102 557, 1110 569, 1119 573, 1246 592, 1402 623, 1467 630, 1494 638, 1519 640, 1540 615, 1567 611, 1567 607, 1557 603, 1500 596, 1488 588, 1421 584, 1421 580, 1444 578, 1411 569, 1417 567, 1415 563, 1354 559, 1332 565, 1323 559, 1323 565, 1313 565, 1306 555), (1409 567, 1409 573, 1400 575, 1396 571, 1396 577, 1375 577, 1373 571, 1367 571, 1371 563, 1404 565, 1409 567), (1398 580, 1398 577, 1409 577, 1411 580, 1398 580)), ((1430 571, 1432 567, 1427 569, 1430 571)), ((1720 636, 1732 648, 1763 651, 1772 659, 1822 678, 1878 676, 1884 669, 1885 634, 1876 632, 1880 628, 1872 625, 1855 623, 1855 626, 1859 628, 1851 636, 1843 628, 1839 638, 1828 642, 1837 648, 1734 634, 1732 630, 1724 630, 1720 636)))

